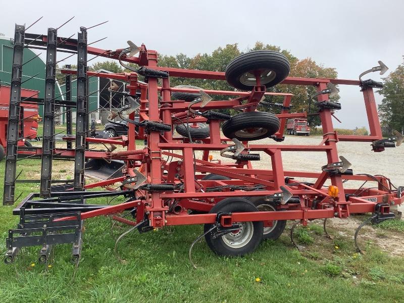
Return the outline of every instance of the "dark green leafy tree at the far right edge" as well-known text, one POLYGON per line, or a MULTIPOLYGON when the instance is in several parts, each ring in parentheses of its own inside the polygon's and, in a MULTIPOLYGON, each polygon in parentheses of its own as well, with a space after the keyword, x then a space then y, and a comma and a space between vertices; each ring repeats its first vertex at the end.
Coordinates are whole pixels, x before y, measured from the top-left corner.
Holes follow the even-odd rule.
POLYGON ((379 117, 388 134, 392 130, 404 131, 404 63, 383 78, 383 88, 378 92, 384 96, 379 105, 379 117))

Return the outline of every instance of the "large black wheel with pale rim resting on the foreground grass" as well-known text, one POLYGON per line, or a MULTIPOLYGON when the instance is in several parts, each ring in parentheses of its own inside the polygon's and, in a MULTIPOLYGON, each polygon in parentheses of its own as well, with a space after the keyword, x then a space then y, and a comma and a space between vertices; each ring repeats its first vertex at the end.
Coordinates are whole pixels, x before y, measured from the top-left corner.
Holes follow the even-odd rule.
MULTIPOLYGON (((231 197, 221 200, 216 204, 210 214, 218 212, 257 212, 257 208, 248 200, 241 197, 231 197)), ((239 222, 239 229, 226 234, 217 234, 216 229, 205 235, 209 248, 219 256, 244 256, 256 250, 262 240, 263 222, 239 222)), ((205 224, 204 230, 207 232, 213 224, 205 224)))

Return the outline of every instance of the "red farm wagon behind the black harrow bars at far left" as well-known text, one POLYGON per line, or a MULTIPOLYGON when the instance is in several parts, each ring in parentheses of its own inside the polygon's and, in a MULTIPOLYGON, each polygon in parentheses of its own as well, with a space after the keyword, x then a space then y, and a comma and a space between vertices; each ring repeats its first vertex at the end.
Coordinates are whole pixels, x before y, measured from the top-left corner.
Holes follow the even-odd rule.
MULTIPOLYGON (((21 99, 26 97, 38 97, 39 91, 32 89, 21 89, 21 99), (35 94, 36 92, 36 94, 35 94)), ((0 85, 0 160, 5 156, 7 147, 7 129, 9 123, 10 86, 0 85)), ((24 109, 23 139, 18 141, 18 146, 31 146, 26 139, 37 137, 38 121, 40 120, 38 105, 21 103, 24 109)))

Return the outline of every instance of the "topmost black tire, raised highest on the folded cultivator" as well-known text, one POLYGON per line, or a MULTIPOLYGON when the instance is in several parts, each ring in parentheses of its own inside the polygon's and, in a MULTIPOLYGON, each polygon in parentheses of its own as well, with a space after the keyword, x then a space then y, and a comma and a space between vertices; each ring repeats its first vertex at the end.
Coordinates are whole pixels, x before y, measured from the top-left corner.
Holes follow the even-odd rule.
POLYGON ((267 88, 282 82, 290 72, 287 58, 267 49, 252 51, 234 58, 226 68, 226 80, 231 86, 251 90, 257 85, 255 71, 261 71, 261 85, 267 88))

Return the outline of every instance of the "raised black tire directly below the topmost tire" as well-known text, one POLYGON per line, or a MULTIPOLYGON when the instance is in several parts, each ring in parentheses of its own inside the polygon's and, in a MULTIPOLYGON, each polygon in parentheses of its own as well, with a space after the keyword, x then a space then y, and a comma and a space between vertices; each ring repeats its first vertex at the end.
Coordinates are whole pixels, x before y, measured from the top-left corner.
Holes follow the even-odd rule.
POLYGON ((253 141, 267 138, 276 133, 280 122, 278 117, 267 112, 240 113, 222 125, 223 134, 229 139, 253 141))

